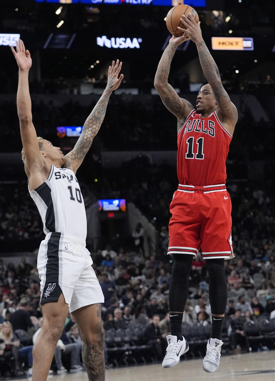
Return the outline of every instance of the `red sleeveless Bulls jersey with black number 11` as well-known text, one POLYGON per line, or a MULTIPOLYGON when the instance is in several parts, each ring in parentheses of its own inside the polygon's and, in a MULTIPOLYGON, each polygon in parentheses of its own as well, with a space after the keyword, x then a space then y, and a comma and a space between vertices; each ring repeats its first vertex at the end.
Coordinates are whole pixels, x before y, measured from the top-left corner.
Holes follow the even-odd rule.
POLYGON ((182 185, 225 184, 229 144, 232 136, 216 112, 201 119, 192 110, 177 135, 177 177, 182 185))

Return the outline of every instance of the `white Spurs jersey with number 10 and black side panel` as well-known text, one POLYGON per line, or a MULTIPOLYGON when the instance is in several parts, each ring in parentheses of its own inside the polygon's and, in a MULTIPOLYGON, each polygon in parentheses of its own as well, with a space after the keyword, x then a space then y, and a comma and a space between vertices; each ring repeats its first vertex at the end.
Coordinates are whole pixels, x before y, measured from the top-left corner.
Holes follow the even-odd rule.
POLYGON ((52 165, 48 179, 29 192, 42 218, 45 234, 61 232, 86 240, 85 205, 73 170, 52 165))

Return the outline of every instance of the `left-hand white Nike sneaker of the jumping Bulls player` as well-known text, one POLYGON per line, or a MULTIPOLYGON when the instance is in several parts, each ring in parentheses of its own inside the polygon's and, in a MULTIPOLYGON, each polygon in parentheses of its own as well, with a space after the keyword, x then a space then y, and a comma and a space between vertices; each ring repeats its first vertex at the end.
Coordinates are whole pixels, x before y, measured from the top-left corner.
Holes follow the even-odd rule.
POLYGON ((189 350, 189 346, 182 336, 182 340, 177 341, 177 336, 166 336, 168 347, 166 348, 166 355, 163 359, 163 368, 171 368, 179 363, 181 355, 189 350))

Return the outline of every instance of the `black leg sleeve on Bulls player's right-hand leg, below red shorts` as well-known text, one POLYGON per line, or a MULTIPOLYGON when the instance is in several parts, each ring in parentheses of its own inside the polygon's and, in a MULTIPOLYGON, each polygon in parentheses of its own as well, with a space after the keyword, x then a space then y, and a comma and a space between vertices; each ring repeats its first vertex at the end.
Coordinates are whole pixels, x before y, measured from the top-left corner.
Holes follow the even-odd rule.
POLYGON ((225 277, 224 258, 206 259, 209 275, 209 301, 214 315, 225 313, 227 304, 227 282, 225 277))

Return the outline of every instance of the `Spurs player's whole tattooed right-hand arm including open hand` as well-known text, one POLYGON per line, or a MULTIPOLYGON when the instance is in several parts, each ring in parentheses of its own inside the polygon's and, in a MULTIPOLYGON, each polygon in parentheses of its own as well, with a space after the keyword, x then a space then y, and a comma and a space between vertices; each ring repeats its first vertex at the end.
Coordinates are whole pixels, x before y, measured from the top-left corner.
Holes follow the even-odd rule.
POLYGON ((76 172, 80 164, 83 162, 86 153, 91 147, 94 137, 97 135, 99 128, 101 127, 106 114, 110 95, 113 90, 118 88, 123 80, 123 74, 120 74, 120 77, 118 78, 121 67, 122 62, 119 63, 118 60, 116 63, 113 61, 112 66, 109 66, 106 89, 104 90, 93 111, 86 119, 86 122, 82 128, 82 133, 78 138, 74 149, 65 156, 67 158, 67 163, 63 165, 64 168, 71 168, 74 172, 76 172))

